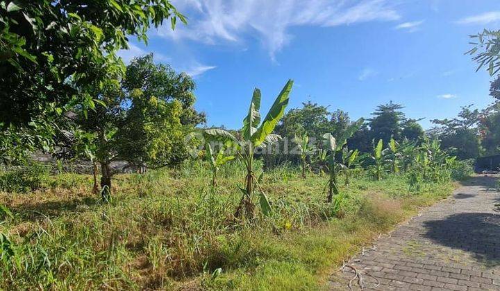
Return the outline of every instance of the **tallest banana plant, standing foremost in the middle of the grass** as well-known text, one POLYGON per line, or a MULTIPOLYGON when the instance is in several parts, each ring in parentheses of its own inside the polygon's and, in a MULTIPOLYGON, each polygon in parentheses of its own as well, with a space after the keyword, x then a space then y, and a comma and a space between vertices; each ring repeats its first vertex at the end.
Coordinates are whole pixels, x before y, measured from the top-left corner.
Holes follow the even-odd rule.
POLYGON ((260 146, 269 145, 275 143, 281 139, 278 134, 272 134, 274 127, 278 124, 285 113, 285 108, 288 105, 288 95, 292 90, 293 81, 288 80, 285 87, 281 90, 280 94, 276 100, 274 100, 271 109, 267 112, 263 122, 260 122, 260 89, 255 89, 253 91, 253 96, 251 99, 249 111, 247 117, 243 120, 243 127, 239 139, 236 139, 233 134, 226 132, 225 130, 206 130, 205 135, 211 136, 214 139, 230 140, 238 143, 238 155, 244 161, 245 168, 247 170, 247 175, 244 179, 244 188, 240 187, 242 190, 242 199, 238 209, 236 210, 235 216, 240 217, 243 214, 247 215, 247 218, 253 217, 254 205, 251 200, 252 194, 258 188, 259 203, 265 215, 269 215, 272 212, 271 204, 267 199, 264 191, 260 187, 259 181, 253 172, 253 158, 256 148, 260 146))

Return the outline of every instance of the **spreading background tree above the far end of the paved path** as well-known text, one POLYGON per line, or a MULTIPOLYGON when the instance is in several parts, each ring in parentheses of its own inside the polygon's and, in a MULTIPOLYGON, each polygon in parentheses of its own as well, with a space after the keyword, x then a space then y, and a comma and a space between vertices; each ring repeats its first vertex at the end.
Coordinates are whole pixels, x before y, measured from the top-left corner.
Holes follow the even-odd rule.
POLYGON ((442 148, 448 149, 458 159, 474 159, 481 155, 481 141, 476 127, 480 113, 471 107, 462 107, 457 118, 432 120, 432 123, 440 125, 433 132, 441 140, 442 148))

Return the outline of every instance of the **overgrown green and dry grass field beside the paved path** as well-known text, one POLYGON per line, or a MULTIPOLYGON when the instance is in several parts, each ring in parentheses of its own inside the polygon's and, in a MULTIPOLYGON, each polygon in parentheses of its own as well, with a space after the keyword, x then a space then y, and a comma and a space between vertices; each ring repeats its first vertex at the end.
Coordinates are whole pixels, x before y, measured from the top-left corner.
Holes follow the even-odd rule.
POLYGON ((322 289, 342 260, 453 189, 442 182, 410 191, 404 175, 373 181, 358 171, 342 187, 346 199, 339 211, 325 203, 326 176, 302 179, 299 168, 281 167, 261 182, 272 215, 242 220, 234 212, 243 168, 238 162, 223 166, 217 188, 199 162, 117 175, 108 204, 91 194, 87 175, 52 176, 33 193, 1 193, 0 286, 322 289))

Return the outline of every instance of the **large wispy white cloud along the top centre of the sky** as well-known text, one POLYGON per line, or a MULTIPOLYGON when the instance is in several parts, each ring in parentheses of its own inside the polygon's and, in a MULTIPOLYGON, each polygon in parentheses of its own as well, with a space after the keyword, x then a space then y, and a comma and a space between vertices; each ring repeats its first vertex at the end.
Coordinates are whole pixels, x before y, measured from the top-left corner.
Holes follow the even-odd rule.
POLYGON ((292 39, 292 26, 340 26, 400 18, 389 0, 183 0, 176 6, 188 26, 169 25, 157 34, 205 44, 241 44, 257 37, 272 59, 292 39))

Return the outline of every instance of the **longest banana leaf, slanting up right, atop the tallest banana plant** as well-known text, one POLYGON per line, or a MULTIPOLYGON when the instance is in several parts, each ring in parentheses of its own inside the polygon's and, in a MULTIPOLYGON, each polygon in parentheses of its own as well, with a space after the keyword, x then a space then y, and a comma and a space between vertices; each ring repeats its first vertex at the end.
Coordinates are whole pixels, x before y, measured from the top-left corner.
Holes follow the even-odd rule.
POLYGON ((280 94, 274 100, 274 103, 269 109, 269 112, 267 112, 267 115, 264 118, 263 123, 260 125, 258 130, 251 136, 251 141, 255 143, 256 146, 260 145, 265 141, 266 136, 272 133, 274 130, 274 127, 276 127, 276 124, 278 124, 278 121, 281 119, 283 114, 285 114, 285 108, 288 105, 288 95, 290 94, 290 91, 292 90, 293 86, 293 81, 288 80, 288 82, 285 84, 285 87, 281 90, 280 94))

